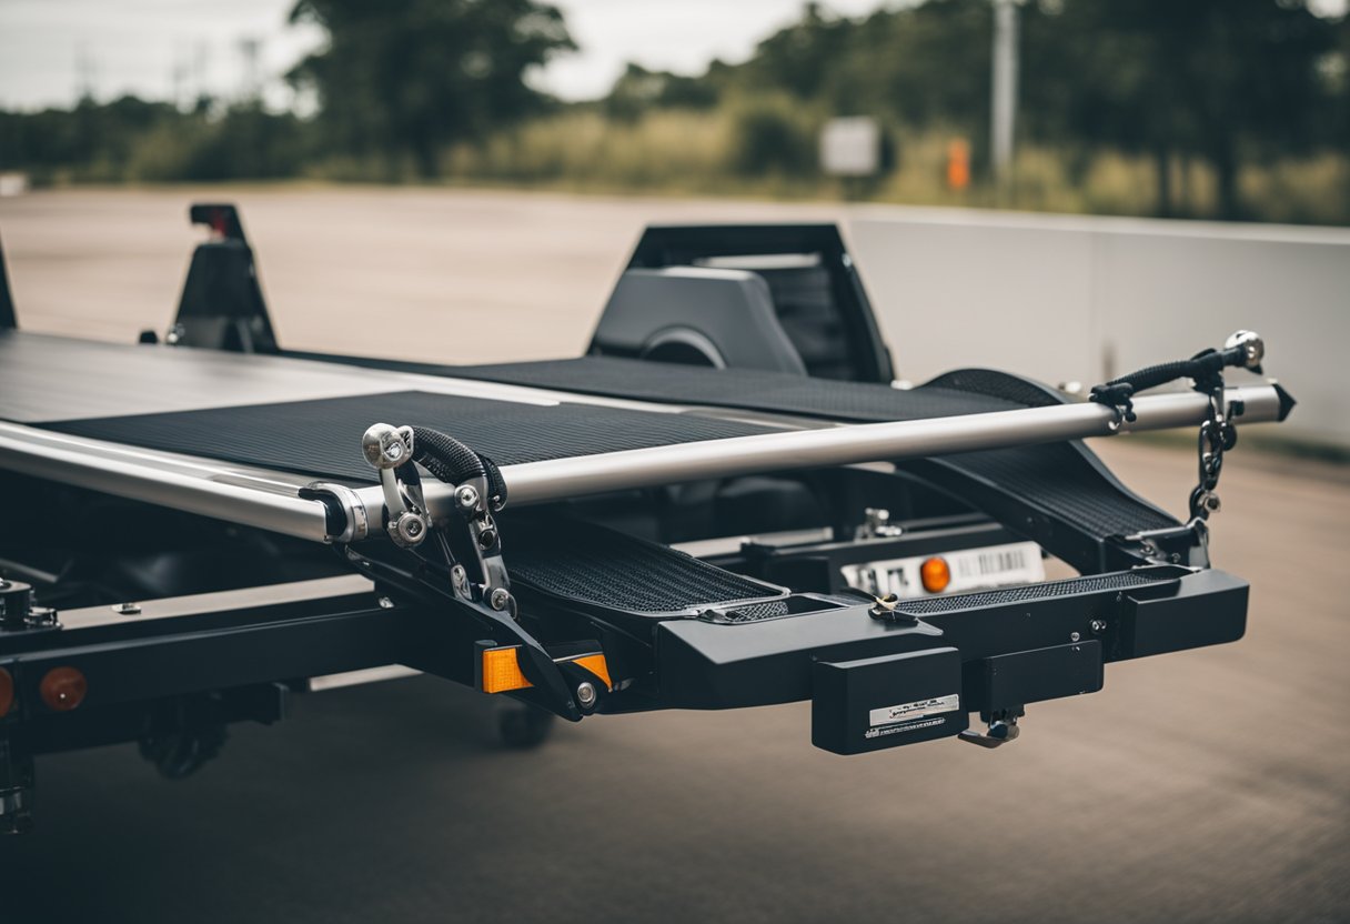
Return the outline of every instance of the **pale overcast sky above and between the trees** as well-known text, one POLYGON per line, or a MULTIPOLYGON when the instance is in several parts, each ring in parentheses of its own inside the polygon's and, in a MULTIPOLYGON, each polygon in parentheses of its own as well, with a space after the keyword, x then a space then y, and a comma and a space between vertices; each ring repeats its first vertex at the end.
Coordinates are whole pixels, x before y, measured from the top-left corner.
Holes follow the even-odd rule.
MULTIPOLYGON (((246 41, 267 97, 277 76, 313 47, 313 28, 286 26, 294 0, 0 0, 0 107, 68 105, 84 85, 100 100, 136 93, 236 95, 248 80, 246 41)), ((558 0, 555 0, 558 1, 558 0)), ((894 5, 896 0, 890 0, 894 5)), ((535 82, 564 99, 603 95, 626 61, 699 73, 714 57, 741 61, 795 19, 802 0, 560 0, 580 51, 535 82)), ((829 0, 846 15, 883 0, 829 0)))

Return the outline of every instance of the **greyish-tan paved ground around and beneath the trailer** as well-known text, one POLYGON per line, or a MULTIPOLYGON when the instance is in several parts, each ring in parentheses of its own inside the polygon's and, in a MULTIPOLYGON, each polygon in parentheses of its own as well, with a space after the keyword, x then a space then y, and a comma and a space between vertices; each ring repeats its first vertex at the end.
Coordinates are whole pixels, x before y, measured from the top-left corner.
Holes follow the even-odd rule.
MULTIPOLYGON (((448 361, 579 349, 649 216, 802 213, 238 199, 284 338, 448 361), (444 338, 452 311, 456 330, 493 323, 487 353, 444 338)), ((185 201, 0 200, 23 320, 163 327, 185 201)), ((1297 392, 1301 370, 1281 371, 1297 392)), ((1187 454, 1100 448, 1180 508, 1187 454)), ((1223 497, 1215 558, 1253 584, 1247 638, 1116 665, 1102 693, 1033 707, 999 751, 837 758, 810 747, 792 705, 597 717, 510 752, 471 693, 424 678, 338 690, 284 725, 234 729, 223 759, 182 782, 134 747, 40 761, 38 833, 0 842, 0 921, 1346 920, 1350 476, 1239 447, 1223 497)))

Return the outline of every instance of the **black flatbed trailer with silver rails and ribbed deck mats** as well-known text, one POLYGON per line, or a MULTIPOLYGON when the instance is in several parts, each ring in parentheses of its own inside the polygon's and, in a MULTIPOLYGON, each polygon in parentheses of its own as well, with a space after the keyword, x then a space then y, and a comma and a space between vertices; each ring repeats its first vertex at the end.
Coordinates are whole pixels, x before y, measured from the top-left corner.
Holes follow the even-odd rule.
POLYGON ((517 744, 810 700, 838 754, 996 747, 1106 663, 1245 631, 1207 517, 1237 427, 1293 407, 1256 335, 1088 401, 992 370, 898 388, 833 227, 751 226, 649 230, 586 357, 301 354, 238 213, 192 217, 212 239, 165 342, 23 332, 0 288, 9 829, 35 755, 138 740, 185 775, 231 721, 400 673, 518 704, 517 744), (1081 443, 1179 427, 1187 521, 1081 443))

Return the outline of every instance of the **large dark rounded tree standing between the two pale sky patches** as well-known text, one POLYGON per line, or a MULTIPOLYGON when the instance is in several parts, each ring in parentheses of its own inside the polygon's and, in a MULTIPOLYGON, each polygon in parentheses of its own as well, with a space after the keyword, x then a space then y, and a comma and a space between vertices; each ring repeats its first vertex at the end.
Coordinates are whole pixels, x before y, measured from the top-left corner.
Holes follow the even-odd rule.
POLYGON ((327 46, 289 74, 319 93, 320 122, 343 151, 410 154, 439 174, 446 145, 539 109, 529 69, 575 50, 562 12, 535 0, 298 0, 327 46))

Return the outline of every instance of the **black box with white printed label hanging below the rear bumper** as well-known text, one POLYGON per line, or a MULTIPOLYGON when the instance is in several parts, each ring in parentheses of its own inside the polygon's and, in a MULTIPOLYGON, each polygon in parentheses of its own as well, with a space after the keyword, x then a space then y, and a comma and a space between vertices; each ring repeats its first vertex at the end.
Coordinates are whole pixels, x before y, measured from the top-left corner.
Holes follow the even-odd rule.
POLYGON ((950 738, 971 724, 956 648, 821 661, 811 681, 811 743, 834 754, 950 738))

